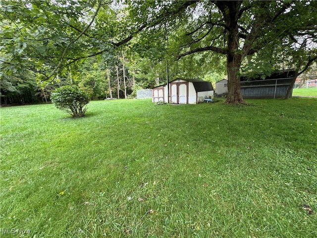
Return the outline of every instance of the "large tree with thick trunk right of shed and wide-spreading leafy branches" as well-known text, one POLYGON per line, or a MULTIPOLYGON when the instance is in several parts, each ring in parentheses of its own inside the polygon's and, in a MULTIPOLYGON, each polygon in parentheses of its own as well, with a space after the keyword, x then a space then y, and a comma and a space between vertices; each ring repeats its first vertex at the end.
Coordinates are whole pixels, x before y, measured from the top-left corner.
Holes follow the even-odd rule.
POLYGON ((226 102, 245 103, 240 90, 243 60, 278 37, 317 27, 314 0, 126 0, 119 6, 116 2, 2 0, 3 68, 25 67, 49 79, 82 59, 113 55, 114 48, 138 33, 146 39, 164 29, 165 35, 177 39, 177 58, 208 51, 225 56, 226 102))

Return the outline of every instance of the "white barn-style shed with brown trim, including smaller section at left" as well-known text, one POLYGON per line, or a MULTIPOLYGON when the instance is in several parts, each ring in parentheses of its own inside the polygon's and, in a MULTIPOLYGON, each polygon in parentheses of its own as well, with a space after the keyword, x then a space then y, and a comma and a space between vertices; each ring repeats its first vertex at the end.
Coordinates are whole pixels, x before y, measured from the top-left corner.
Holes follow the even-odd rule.
MULTIPOLYGON (((152 89, 152 102, 168 102, 167 84, 152 89)), ((200 79, 177 78, 169 82, 169 102, 175 104, 196 104, 205 97, 213 98, 211 82, 200 79)))

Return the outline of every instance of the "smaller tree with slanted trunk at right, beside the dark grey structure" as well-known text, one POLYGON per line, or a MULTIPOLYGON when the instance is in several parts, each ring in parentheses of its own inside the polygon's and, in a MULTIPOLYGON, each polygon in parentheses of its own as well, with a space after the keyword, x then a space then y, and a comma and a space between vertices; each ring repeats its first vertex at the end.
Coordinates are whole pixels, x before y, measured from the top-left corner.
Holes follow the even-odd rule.
POLYGON ((275 26, 281 29, 281 33, 256 54, 247 57, 247 62, 242 66, 242 70, 250 77, 262 74, 263 79, 275 70, 294 70, 295 75, 288 88, 286 99, 291 96, 296 78, 305 72, 312 71, 314 62, 317 62, 317 28, 316 25, 309 26, 312 21, 317 20, 315 11, 317 5, 316 2, 310 1, 305 5, 302 7, 306 8, 306 14, 300 14, 299 12, 303 9, 297 6, 288 12, 288 16, 283 16, 283 21, 275 26), (289 17, 296 18, 296 21, 292 27, 285 30, 283 22, 289 17))

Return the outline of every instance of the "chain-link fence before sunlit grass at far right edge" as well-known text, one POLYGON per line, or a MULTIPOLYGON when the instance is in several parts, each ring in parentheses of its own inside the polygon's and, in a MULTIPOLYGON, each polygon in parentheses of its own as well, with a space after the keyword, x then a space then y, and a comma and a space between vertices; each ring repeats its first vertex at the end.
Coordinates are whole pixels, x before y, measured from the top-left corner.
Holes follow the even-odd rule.
POLYGON ((317 76, 297 78, 293 88, 293 97, 317 97, 317 76))

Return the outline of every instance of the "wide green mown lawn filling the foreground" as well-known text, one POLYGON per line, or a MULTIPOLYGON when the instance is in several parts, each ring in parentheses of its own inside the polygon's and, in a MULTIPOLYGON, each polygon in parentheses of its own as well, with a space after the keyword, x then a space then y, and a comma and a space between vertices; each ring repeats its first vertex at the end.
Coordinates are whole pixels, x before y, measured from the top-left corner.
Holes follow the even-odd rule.
POLYGON ((0 228, 32 238, 317 237, 317 99, 248 102, 94 101, 82 119, 52 104, 1 108, 0 228))

